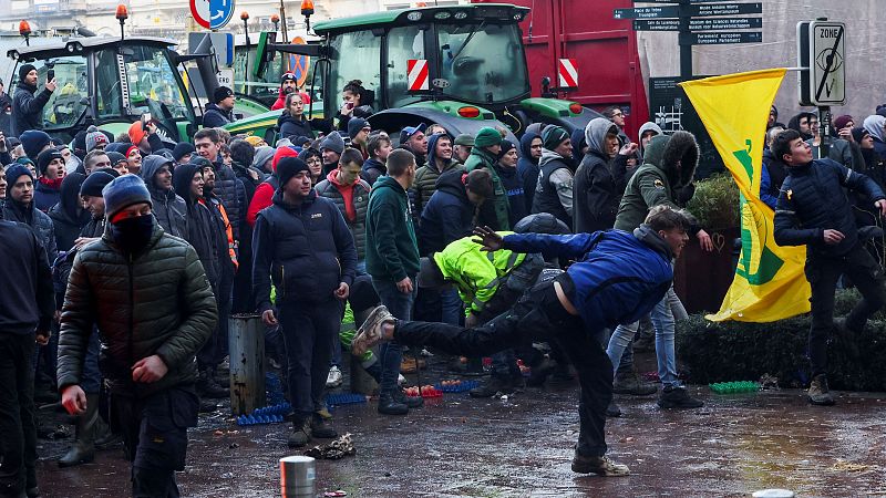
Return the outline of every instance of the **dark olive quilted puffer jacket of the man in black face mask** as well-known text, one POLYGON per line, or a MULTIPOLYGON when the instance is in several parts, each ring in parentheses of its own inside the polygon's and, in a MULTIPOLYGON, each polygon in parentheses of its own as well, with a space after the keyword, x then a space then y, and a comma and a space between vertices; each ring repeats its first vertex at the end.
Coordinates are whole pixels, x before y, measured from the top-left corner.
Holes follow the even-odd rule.
POLYGON ((114 394, 147 397, 193 383, 197 350, 218 321, 215 298, 197 252, 154 222, 145 250, 131 260, 110 230, 80 250, 62 308, 59 388, 79 384, 93 324, 101 333, 100 365, 114 394), (135 383, 132 366, 158 355, 169 371, 135 383))

